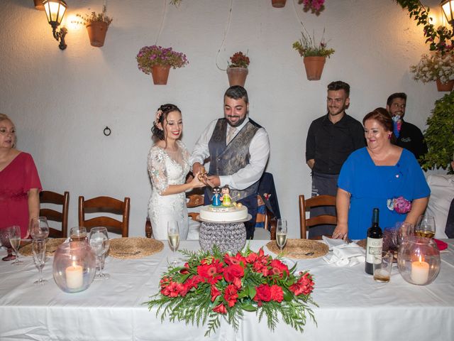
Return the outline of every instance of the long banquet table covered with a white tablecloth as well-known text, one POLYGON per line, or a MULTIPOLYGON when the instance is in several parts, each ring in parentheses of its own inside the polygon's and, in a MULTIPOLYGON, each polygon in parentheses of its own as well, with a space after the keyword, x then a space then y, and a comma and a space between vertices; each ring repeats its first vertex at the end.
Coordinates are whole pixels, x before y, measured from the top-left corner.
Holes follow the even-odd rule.
MULTIPOLYGON (((267 241, 250 242, 257 251, 267 241)), ((81 293, 64 293, 52 278, 52 257, 43 269, 48 284, 33 286, 38 270, 0 261, 0 340, 454 340, 454 239, 441 253, 441 271, 428 286, 404 281, 397 266, 389 283, 377 283, 362 264, 337 267, 323 259, 297 262, 314 274, 315 325, 308 317, 301 334, 284 323, 270 332, 266 319, 245 313, 238 331, 226 321, 204 337, 206 326, 161 323, 143 302, 157 292, 160 274, 172 258, 167 243, 143 259, 106 259, 108 281, 81 293)), ((199 249, 181 242, 180 249, 199 249)), ((270 253, 265 247, 265 253, 270 253)), ((5 252, 0 251, 4 256, 5 252)))

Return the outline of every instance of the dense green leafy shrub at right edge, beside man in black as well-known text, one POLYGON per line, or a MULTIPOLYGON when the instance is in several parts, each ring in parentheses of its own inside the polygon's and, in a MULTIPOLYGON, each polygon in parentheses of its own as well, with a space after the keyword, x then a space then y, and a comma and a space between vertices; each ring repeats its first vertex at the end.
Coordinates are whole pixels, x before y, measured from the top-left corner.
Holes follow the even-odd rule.
MULTIPOLYGON (((426 123, 427 129, 423 135, 428 152, 421 157, 423 170, 450 168, 454 153, 454 92, 445 94, 435 102, 426 123)), ((453 173, 453 168, 450 168, 450 173, 453 173)))

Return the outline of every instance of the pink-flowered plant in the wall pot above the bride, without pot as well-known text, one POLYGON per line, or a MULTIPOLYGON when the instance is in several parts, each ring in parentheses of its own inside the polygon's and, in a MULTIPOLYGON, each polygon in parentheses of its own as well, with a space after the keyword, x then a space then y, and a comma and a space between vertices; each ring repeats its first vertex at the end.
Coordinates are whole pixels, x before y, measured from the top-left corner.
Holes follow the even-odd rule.
POLYGON ((179 53, 172 48, 162 48, 161 46, 143 46, 139 50, 137 57, 138 68, 140 71, 150 75, 155 65, 170 65, 174 69, 184 67, 189 64, 184 53, 179 53))

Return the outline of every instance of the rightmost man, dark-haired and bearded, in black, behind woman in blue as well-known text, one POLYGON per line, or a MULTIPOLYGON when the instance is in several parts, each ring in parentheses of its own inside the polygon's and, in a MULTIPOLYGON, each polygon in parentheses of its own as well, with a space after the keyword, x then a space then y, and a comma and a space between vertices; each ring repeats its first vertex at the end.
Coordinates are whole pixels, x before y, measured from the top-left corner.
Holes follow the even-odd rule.
POLYGON ((426 142, 424 142, 421 130, 409 122, 404 121, 406 107, 406 94, 396 92, 388 97, 386 109, 394 121, 394 135, 397 139, 397 146, 406 148, 419 161, 419 158, 427 153, 426 142))

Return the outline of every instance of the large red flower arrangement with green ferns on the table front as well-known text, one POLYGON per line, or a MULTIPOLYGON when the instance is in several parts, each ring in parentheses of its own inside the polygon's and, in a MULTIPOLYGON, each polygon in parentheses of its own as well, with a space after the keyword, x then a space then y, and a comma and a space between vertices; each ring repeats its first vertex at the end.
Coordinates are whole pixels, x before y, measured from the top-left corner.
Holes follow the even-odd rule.
POLYGON ((282 320, 303 332, 306 313, 314 323, 309 303, 314 281, 308 272, 295 275, 279 259, 246 248, 235 256, 210 251, 180 251, 188 257, 182 267, 170 267, 160 280, 160 293, 148 301, 148 308, 157 307, 161 320, 168 315, 172 322, 208 323, 205 336, 220 326, 224 318, 238 330, 244 312, 256 312, 259 320, 267 318, 274 330, 282 320), (280 313, 282 319, 279 318, 280 313))

